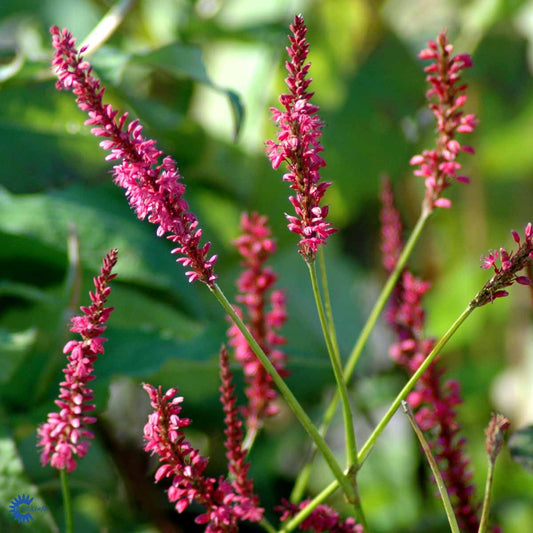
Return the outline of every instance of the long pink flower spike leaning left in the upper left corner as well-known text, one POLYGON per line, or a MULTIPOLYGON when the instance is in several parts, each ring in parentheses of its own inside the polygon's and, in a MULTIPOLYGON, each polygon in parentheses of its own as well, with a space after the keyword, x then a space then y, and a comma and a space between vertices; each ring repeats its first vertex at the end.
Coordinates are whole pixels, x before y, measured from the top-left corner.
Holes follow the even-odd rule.
POLYGON ((110 151, 106 159, 119 161, 113 169, 115 183, 125 189, 140 220, 148 218, 157 225, 159 237, 167 235, 178 245, 172 253, 179 254, 177 261, 189 269, 189 281, 199 279, 212 285, 216 255, 208 258, 209 242, 200 245, 202 230, 183 197, 185 186, 175 161, 170 156, 162 158, 156 141, 143 137, 138 120, 128 123, 127 113, 117 118, 118 111, 103 103, 104 88, 82 58, 84 49, 76 49, 72 34, 56 26, 50 33, 56 49, 52 60, 59 78, 56 87, 77 96, 78 107, 89 115, 85 124, 93 126, 91 133, 105 138, 100 146, 110 151))

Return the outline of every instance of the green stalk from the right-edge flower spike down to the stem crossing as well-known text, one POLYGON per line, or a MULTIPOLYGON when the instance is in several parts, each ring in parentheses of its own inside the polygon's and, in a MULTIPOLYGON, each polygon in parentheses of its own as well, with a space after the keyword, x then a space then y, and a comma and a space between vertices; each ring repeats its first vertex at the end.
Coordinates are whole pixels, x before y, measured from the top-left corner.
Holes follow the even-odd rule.
POLYGON ((405 384, 403 389, 398 393, 394 401, 392 402, 389 410, 385 413, 383 418, 380 420, 378 425, 375 427, 374 431, 368 437, 368 440, 365 442, 361 451, 359 452, 358 459, 359 465, 362 465, 365 459, 367 458, 370 450, 373 448, 377 438, 381 435, 382 431, 387 427, 387 424, 390 422, 390 419, 393 417, 394 413, 400 407, 401 401, 405 400, 407 395, 411 392, 413 387, 416 385, 416 382, 420 379, 420 376, 426 371, 428 366, 433 362, 435 357, 439 352, 444 348, 445 344, 450 340, 452 335, 457 331, 459 326, 468 318, 470 313, 474 310, 473 307, 468 306, 457 318, 457 320, 451 325, 450 329, 442 336, 439 342, 435 345, 433 350, 429 355, 424 359, 424 362, 420 365, 417 371, 411 376, 409 381, 405 384))

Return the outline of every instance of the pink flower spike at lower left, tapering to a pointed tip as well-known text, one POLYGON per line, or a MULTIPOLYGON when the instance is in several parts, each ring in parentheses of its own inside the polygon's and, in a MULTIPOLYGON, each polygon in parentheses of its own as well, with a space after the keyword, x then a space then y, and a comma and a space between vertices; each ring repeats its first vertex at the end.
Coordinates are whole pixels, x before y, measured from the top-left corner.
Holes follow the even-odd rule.
POLYGON ((96 418, 89 413, 94 411, 93 391, 88 384, 95 379, 94 362, 104 353, 102 337, 105 323, 113 311, 104 307, 111 292, 109 282, 115 277, 111 274, 117 262, 117 250, 111 250, 103 260, 100 276, 94 278, 95 292, 90 292, 91 305, 81 307, 83 315, 72 319, 70 331, 79 333, 81 340, 71 340, 63 348, 68 364, 63 370, 65 381, 60 383, 59 398, 55 401, 60 411, 50 413, 48 420, 39 426, 37 446, 41 447, 41 464, 50 463, 54 468, 72 472, 76 469, 78 458, 89 450, 89 439, 94 438, 87 429, 96 418))

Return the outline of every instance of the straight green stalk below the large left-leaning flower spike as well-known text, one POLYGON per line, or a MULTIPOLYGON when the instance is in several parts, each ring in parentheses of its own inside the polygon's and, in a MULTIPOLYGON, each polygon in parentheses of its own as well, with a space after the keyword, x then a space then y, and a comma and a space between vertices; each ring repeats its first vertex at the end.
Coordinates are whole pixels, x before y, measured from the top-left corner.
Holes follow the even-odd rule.
POLYGON ((235 312, 233 306, 230 304, 224 293, 221 291, 220 287, 216 283, 214 283, 213 285, 209 286, 209 289, 219 301, 220 305, 224 308, 226 313, 233 320, 235 325, 239 328, 240 332, 243 334, 244 338, 248 342, 250 349, 254 352, 259 361, 261 361, 261 364, 263 365, 264 369, 270 374, 280 393, 285 398, 285 401, 287 402, 293 413, 296 415, 296 418, 298 418, 304 429, 313 439, 317 448, 320 450, 320 453, 322 453, 322 455, 324 456, 324 459, 326 460, 329 468, 331 469, 332 474, 335 476, 340 486, 342 487, 342 490, 346 494, 348 501, 355 502, 357 495, 349 477, 343 473, 330 447, 327 445, 324 438, 320 435, 311 419, 307 416, 307 413, 304 411, 303 407, 300 405, 292 391, 289 389, 289 387, 283 380, 283 378, 278 374, 277 370, 275 369, 274 365, 267 357, 265 352, 261 349, 259 344, 257 344, 257 341, 253 338, 248 328, 244 325, 239 315, 235 312))

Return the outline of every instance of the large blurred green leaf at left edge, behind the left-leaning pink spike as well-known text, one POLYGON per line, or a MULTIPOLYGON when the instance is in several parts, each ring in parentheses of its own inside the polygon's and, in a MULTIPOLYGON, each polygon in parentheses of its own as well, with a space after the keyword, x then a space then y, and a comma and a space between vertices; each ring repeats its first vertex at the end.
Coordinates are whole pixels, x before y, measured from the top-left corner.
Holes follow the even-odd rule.
POLYGON ((0 230, 5 233, 23 235, 66 253, 71 222, 79 234, 84 266, 99 269, 103 254, 118 248, 121 281, 156 290, 177 284, 181 298, 190 294, 181 267, 168 255, 165 240, 155 238, 153 226, 136 219, 122 194, 111 185, 90 188, 76 184, 61 191, 17 196, 0 190, 0 230))

